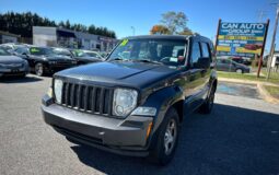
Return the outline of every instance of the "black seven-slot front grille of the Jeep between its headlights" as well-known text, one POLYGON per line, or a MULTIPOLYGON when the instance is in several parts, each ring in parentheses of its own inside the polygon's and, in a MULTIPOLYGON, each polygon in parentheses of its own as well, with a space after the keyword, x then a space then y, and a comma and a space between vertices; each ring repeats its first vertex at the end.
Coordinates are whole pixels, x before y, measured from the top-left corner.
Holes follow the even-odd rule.
POLYGON ((77 110, 112 115, 113 89, 63 82, 62 105, 77 110))

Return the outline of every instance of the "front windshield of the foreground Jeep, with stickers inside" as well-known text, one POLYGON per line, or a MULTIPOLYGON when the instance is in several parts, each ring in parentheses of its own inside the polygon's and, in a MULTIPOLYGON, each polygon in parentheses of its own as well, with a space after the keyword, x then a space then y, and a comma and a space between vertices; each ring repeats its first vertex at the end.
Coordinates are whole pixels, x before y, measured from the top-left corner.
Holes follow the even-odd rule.
POLYGON ((185 62, 186 40, 177 39, 124 39, 108 60, 148 60, 170 66, 185 62))

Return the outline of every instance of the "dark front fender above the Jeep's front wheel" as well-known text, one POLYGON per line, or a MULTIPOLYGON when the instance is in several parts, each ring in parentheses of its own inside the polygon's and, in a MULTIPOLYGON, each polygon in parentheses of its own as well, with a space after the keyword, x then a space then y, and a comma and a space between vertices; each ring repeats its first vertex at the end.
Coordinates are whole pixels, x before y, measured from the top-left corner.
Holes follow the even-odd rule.
POLYGON ((167 86, 161 89, 156 92, 153 92, 147 98, 142 106, 156 108, 152 132, 154 132, 160 127, 168 107, 181 100, 184 100, 184 95, 183 91, 178 86, 167 86))

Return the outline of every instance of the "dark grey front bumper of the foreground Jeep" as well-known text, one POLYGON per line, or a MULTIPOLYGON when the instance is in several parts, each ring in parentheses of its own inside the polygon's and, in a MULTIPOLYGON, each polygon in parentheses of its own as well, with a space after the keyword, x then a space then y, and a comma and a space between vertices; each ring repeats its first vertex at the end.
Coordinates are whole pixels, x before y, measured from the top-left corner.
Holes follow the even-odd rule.
POLYGON ((73 142, 85 143, 105 151, 147 156, 147 132, 152 117, 129 116, 118 119, 77 112, 43 98, 45 121, 73 142))

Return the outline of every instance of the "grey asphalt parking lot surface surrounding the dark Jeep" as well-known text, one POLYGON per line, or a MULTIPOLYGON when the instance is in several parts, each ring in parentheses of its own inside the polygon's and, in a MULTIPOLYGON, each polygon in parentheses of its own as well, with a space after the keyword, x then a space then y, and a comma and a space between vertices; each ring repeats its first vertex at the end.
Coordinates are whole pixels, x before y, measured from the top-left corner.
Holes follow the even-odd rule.
POLYGON ((225 93, 237 88, 221 83, 212 114, 187 116, 175 159, 160 167, 75 145, 56 133, 39 108, 50 80, 28 75, 0 82, 1 175, 279 174, 279 106, 255 93, 225 93))

